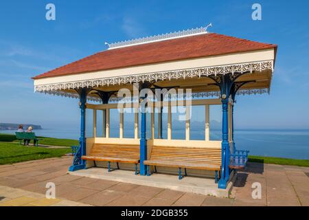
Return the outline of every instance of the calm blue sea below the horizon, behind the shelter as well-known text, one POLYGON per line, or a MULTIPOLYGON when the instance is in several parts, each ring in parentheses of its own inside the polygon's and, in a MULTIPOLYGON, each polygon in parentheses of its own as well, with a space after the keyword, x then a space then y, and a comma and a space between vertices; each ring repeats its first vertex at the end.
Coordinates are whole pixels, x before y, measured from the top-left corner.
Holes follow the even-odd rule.
MULTIPOLYGON (((15 131, 0 131, 13 133, 15 131)), ((41 129, 34 131, 38 136, 78 139, 78 128, 41 129)), ((111 130, 111 136, 117 136, 111 130)), ((190 138, 197 140, 201 131, 190 131, 190 138)), ((204 136, 205 137, 205 136, 204 136)), ((183 132, 174 131, 173 139, 183 139, 183 132)), ((220 131, 212 131, 210 140, 220 140, 220 131)), ((236 148, 249 150, 250 155, 309 159, 309 129, 238 129, 234 131, 236 148)))

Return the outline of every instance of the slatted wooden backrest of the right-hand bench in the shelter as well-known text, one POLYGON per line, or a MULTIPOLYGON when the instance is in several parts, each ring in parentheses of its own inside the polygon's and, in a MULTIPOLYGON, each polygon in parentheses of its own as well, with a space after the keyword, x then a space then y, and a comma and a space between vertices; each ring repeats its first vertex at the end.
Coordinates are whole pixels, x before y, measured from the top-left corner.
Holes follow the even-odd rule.
POLYGON ((150 160, 221 165, 221 148, 152 146, 150 160))

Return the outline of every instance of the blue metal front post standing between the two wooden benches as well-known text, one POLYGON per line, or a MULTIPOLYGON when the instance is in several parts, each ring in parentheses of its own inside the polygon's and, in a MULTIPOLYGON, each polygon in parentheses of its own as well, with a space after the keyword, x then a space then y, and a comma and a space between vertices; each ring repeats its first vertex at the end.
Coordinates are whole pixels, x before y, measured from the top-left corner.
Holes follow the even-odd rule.
MULTIPOLYGON (((143 98, 144 100, 144 98, 143 98)), ((147 140, 146 140, 146 107, 145 104, 141 104, 141 140, 140 143, 140 164, 139 174, 146 175, 147 167, 144 165, 144 160, 147 160, 147 140)))

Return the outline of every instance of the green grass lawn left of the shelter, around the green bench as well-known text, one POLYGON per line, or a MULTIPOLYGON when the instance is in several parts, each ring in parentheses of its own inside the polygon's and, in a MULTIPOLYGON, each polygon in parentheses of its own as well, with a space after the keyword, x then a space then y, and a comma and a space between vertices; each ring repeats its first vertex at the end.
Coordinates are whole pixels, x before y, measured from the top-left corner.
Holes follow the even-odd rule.
MULTIPOLYGON (((39 144, 53 146, 78 145, 77 140, 57 139, 52 137, 42 137, 39 144)), ((33 142, 30 143, 31 145, 33 142)), ((15 135, 0 134, 0 164, 14 164, 34 159, 45 159, 49 157, 61 157, 66 153, 71 153, 71 148, 45 148, 34 146, 20 146, 15 135)))

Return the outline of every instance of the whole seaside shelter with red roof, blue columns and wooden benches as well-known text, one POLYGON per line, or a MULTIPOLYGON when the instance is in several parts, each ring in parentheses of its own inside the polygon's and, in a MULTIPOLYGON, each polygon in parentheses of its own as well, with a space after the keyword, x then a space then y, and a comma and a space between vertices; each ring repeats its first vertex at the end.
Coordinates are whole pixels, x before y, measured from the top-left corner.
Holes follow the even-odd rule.
POLYGON ((106 45, 102 52, 33 78, 36 92, 80 100, 80 146, 69 170, 100 166, 133 170, 132 175, 197 175, 226 188, 248 155, 236 150, 233 140, 236 95, 269 93, 277 45, 206 28, 106 45), (175 122, 179 106, 184 118, 175 122), (220 140, 209 135, 214 106, 222 118, 220 140), (201 121, 190 123, 196 107, 200 111, 194 117, 201 121), (201 137, 194 140, 192 127, 201 123, 201 137), (173 135, 175 126, 183 128, 182 138, 173 135))

